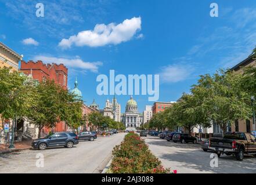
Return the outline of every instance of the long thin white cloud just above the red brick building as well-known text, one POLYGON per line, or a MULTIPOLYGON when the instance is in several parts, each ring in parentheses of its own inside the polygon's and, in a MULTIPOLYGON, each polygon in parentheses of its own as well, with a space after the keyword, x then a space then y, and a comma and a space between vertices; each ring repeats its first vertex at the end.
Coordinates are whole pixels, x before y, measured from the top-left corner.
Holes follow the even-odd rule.
POLYGON ((48 56, 35 56, 33 60, 41 60, 45 63, 56 63, 56 64, 64 64, 68 68, 73 69, 84 69, 92 72, 98 72, 99 66, 102 65, 102 62, 85 62, 82 61, 81 58, 57 58, 57 57, 48 57, 48 56))

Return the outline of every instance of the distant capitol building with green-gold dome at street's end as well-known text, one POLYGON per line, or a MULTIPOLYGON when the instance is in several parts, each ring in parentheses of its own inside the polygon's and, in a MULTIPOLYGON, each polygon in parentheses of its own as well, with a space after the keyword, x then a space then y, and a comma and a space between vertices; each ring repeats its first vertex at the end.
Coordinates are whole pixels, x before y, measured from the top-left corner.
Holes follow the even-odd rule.
POLYGON ((143 121, 143 116, 138 112, 138 105, 134 98, 127 101, 125 107, 125 113, 121 115, 121 121, 125 124, 125 127, 131 130, 135 130, 136 127, 140 127, 143 121))

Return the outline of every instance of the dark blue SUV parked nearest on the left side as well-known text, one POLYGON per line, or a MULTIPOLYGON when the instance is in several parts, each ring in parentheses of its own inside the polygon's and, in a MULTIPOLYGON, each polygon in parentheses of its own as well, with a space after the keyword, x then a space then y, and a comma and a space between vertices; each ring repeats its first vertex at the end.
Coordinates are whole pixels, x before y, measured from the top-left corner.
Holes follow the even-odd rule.
POLYGON ((45 150, 48 147, 64 146, 72 148, 77 145, 78 137, 73 132, 56 132, 42 139, 35 139, 32 142, 33 149, 45 150))

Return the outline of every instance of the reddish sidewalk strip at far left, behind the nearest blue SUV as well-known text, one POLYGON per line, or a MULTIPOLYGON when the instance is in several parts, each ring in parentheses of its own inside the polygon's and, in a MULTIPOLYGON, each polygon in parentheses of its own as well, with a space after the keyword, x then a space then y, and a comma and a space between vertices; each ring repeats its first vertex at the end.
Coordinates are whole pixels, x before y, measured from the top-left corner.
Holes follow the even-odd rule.
POLYGON ((9 143, 7 143, 7 149, 5 150, 5 144, 0 144, 0 154, 10 153, 12 151, 19 151, 19 150, 27 150, 31 148, 32 140, 27 140, 23 142, 15 142, 14 146, 15 149, 9 149, 9 143))

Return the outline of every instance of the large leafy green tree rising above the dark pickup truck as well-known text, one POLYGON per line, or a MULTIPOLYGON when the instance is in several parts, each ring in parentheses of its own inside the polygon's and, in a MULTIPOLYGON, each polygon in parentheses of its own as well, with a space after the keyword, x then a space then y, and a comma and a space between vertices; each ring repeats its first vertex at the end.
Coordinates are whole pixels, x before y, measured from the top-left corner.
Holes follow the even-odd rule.
POLYGON ((250 95, 241 87, 240 73, 218 71, 202 75, 192 87, 192 94, 199 101, 199 112, 217 123, 223 132, 235 120, 248 119, 251 113, 250 95))

